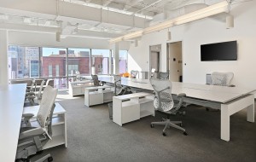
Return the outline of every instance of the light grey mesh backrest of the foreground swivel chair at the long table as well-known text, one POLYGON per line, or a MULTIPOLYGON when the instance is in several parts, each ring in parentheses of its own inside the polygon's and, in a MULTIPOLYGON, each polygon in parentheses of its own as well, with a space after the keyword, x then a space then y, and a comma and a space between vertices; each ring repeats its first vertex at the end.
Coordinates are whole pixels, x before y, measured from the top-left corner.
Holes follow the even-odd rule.
POLYGON ((163 112, 170 111, 174 106, 172 99, 172 82, 170 80, 161 80, 150 78, 155 97, 154 108, 163 112))

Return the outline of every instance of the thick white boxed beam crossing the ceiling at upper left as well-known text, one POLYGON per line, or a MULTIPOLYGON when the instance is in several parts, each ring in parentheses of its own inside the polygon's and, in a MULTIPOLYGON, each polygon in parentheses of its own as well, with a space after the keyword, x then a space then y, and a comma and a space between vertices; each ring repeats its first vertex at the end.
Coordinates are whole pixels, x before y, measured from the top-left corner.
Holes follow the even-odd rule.
MULTIPOLYGON (((44 18, 49 20, 79 21, 89 20, 119 26, 133 26, 133 17, 128 14, 116 13, 113 11, 92 8, 89 6, 59 2, 59 12, 56 16, 56 3, 53 0, 12 0, 0 3, 0 13, 13 14, 27 17, 44 18), (48 6, 42 8, 42 6, 48 6)), ((135 17, 134 27, 145 27, 144 18, 135 17)))

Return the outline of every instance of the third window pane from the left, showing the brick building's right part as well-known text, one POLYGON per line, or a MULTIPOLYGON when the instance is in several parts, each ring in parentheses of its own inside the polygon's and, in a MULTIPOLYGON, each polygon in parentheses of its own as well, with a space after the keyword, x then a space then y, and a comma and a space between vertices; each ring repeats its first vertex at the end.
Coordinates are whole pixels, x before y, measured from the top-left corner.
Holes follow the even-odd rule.
POLYGON ((90 75, 90 49, 68 49, 68 75, 90 75))

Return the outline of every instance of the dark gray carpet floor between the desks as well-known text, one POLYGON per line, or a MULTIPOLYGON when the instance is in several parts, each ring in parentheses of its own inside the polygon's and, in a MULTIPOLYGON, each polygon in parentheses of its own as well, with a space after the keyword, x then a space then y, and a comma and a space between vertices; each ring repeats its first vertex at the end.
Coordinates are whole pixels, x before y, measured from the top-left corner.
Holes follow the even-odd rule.
POLYGON ((185 107, 183 132, 169 129, 162 136, 162 125, 150 128, 150 122, 165 115, 124 124, 120 127, 108 118, 108 105, 84 106, 84 96, 71 97, 60 91, 57 101, 67 110, 67 148, 45 150, 60 162, 119 161, 256 161, 256 123, 248 123, 246 111, 230 118, 230 142, 220 140, 220 112, 207 112, 205 107, 185 107), (65 97, 63 97, 65 96, 65 97))

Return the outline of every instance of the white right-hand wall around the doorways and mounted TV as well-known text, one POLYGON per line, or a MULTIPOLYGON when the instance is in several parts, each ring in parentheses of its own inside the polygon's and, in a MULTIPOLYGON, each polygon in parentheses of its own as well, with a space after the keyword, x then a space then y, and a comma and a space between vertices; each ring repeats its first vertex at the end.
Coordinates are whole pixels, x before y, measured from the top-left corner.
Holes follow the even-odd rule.
MULTIPOLYGON (((235 17, 235 27, 231 29, 225 28, 224 14, 218 16, 222 20, 207 18, 172 27, 170 42, 183 41, 183 82, 205 84, 206 73, 234 72, 232 84, 256 88, 256 1, 232 5, 230 14, 235 17), (237 61, 201 61, 201 44, 232 40, 238 43, 237 61)), ((148 71, 149 46, 162 44, 160 70, 165 72, 166 39, 167 31, 164 30, 143 36, 137 47, 131 45, 128 68, 139 65, 143 71, 148 71)))

